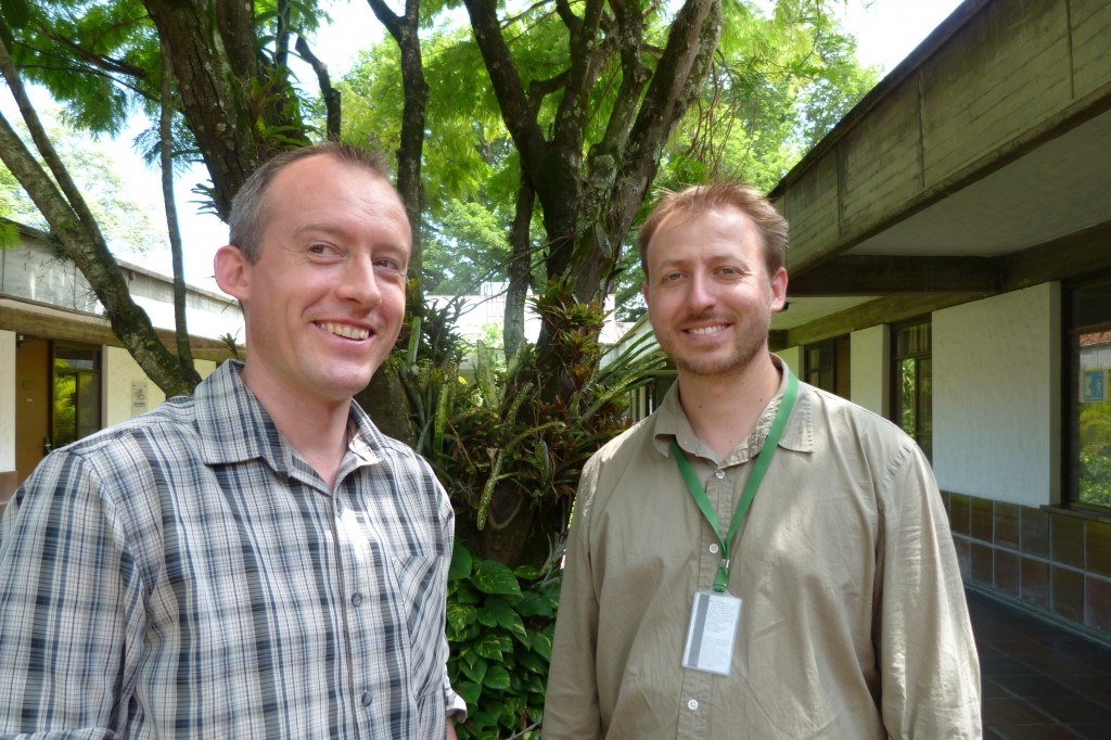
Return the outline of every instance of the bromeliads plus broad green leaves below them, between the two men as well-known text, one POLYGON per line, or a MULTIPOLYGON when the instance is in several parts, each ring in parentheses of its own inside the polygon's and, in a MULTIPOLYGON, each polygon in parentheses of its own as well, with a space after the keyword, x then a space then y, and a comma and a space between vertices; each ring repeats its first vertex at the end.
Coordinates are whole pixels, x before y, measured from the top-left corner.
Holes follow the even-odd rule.
POLYGON ((467 382, 464 348, 442 313, 424 311, 392 360, 414 447, 456 510, 449 673, 468 703, 463 739, 537 733, 579 474, 628 426, 630 391, 663 364, 644 338, 603 366, 605 316, 564 287, 550 286, 532 304, 548 344, 504 364, 480 346, 467 382))

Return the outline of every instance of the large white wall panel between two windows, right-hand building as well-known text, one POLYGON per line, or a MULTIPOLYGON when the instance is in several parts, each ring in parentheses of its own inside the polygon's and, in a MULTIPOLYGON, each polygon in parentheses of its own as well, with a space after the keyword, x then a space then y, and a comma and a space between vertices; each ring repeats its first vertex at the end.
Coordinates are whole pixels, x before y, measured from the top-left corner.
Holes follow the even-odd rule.
POLYGON ((933 469, 943 490, 1060 502, 1060 283, 933 314, 933 469))

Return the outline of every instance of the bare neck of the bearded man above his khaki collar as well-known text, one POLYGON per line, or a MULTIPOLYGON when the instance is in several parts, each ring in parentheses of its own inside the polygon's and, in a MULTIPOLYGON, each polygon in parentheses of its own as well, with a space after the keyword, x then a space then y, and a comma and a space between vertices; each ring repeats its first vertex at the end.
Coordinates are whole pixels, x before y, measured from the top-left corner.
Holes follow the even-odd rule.
POLYGON ((779 383, 779 369, 764 352, 729 374, 680 370, 679 402, 694 436, 724 460, 755 429, 779 383))

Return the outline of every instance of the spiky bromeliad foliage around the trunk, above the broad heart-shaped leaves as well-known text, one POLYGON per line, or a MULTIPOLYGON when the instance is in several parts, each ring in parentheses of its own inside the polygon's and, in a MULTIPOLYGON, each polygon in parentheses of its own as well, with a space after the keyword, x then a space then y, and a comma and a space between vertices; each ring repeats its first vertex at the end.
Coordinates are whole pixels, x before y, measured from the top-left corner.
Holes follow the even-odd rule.
MULTIPOLYGON (((426 350, 396 353, 393 367, 409 398, 416 448, 448 489, 463 543, 491 557, 483 549, 488 530, 508 532, 524 509, 533 514, 527 539, 544 546, 512 558, 537 564, 550 554, 548 538, 565 529, 582 464, 627 427, 629 392, 647 382, 663 357, 642 342, 600 367, 598 332, 605 317, 597 303, 579 303, 553 284, 533 308, 552 328, 544 352, 526 347, 502 367, 484 344, 480 351, 466 348, 473 351, 474 370, 462 382, 464 348, 438 330, 431 332, 439 337, 436 357, 426 350), (496 496, 517 500, 519 510, 493 512, 496 496)), ((424 324, 448 327, 450 317, 424 316, 410 338, 420 336, 420 346, 431 349, 424 324)))

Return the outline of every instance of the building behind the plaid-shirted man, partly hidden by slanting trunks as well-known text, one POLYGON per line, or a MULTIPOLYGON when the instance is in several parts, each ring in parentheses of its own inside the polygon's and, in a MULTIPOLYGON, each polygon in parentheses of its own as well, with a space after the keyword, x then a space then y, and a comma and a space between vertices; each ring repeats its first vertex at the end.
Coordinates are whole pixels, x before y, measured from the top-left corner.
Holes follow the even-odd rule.
MULTIPOLYGON (((8 222, 10 223, 10 222, 8 222)), ((54 447, 143 413, 166 396, 112 334, 102 307, 49 234, 16 224, 19 244, 0 249, 0 508, 54 447)), ((173 283, 120 262, 131 296, 174 347, 173 283)), ((238 303, 189 288, 187 319, 202 377, 231 357, 238 303)))

